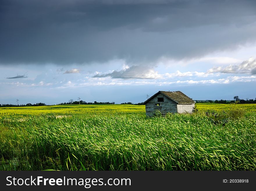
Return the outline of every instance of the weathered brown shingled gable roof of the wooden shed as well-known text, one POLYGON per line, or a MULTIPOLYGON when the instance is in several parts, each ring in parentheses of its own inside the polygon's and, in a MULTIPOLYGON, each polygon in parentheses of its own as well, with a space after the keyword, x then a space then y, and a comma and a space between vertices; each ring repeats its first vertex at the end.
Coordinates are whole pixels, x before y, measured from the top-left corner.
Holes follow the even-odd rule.
POLYGON ((161 93, 161 94, 167 96, 168 98, 170 98, 171 100, 173 100, 177 104, 192 104, 192 103, 195 103, 194 100, 189 98, 187 95, 185 95, 181 91, 159 91, 156 94, 154 94, 153 96, 151 96, 149 99, 147 99, 143 104, 146 104, 146 102, 151 100, 158 93, 161 93))

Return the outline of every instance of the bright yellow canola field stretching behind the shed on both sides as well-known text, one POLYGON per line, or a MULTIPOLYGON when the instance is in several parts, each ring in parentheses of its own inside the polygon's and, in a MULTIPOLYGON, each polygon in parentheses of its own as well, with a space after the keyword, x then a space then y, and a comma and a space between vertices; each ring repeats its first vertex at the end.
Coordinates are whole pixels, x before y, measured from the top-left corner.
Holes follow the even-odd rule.
MULTIPOLYGON (((245 109, 246 112, 256 113, 256 104, 216 104, 196 103, 199 111, 227 111, 231 108, 245 109)), ((1 115, 111 115, 111 114, 138 114, 145 115, 145 105, 49 105, 32 107, 0 107, 1 115)))

